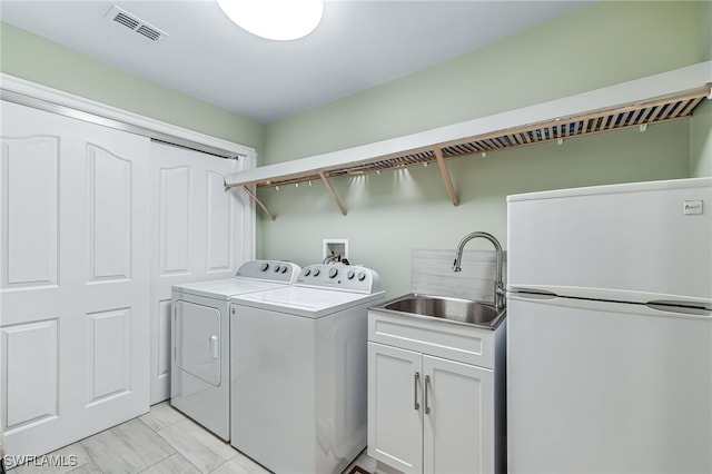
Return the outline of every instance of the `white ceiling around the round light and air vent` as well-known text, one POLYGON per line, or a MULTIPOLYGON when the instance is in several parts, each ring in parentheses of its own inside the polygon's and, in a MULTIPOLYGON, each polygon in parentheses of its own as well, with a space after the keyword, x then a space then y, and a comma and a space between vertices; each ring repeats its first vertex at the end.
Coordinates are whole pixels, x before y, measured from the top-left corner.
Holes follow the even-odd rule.
POLYGON ((251 36, 231 23, 212 0, 0 0, 0 18, 268 124, 442 62, 585 3, 326 0, 317 29, 291 42, 251 36), (105 18, 115 4, 168 37, 154 42, 105 18))

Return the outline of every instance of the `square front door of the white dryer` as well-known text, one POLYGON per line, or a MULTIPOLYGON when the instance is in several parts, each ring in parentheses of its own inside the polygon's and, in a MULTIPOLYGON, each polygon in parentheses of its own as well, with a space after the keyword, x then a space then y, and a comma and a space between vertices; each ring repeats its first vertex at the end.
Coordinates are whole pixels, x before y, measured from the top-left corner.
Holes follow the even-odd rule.
POLYGON ((176 302, 176 363, 216 387, 220 385, 220 312, 195 303, 176 302))

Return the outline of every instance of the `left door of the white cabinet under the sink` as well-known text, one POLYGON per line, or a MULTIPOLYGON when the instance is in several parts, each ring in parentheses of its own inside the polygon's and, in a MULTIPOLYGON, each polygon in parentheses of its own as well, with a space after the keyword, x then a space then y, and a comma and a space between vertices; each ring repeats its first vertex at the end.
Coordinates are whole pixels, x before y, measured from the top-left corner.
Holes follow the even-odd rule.
POLYGON ((423 472, 422 355, 368 343, 368 455, 423 472))

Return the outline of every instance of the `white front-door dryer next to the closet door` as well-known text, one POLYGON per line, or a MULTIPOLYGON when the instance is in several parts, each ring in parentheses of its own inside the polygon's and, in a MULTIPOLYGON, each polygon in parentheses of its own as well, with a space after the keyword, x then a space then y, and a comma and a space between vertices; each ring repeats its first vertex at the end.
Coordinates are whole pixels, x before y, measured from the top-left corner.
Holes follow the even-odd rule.
POLYGON ((299 266, 253 260, 233 278, 172 287, 170 404, 225 441, 230 436, 229 305, 234 295, 281 288, 299 266))

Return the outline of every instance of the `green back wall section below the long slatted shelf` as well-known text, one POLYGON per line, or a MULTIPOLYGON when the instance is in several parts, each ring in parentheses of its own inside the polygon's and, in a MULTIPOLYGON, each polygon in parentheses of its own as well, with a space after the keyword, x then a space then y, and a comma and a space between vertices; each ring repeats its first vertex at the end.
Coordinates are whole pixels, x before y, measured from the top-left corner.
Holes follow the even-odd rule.
POLYGON ((260 217, 260 254, 304 266, 320 261, 323 238, 347 238, 353 264, 376 269, 390 296, 408 293, 413 248, 454 249, 473 230, 506 247, 507 195, 688 177, 689 128, 674 121, 448 160, 457 207, 436 166, 333 179, 347 216, 320 182, 269 188, 260 198, 277 220, 260 217))

